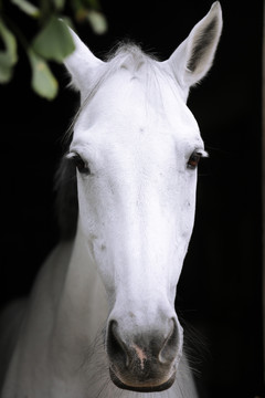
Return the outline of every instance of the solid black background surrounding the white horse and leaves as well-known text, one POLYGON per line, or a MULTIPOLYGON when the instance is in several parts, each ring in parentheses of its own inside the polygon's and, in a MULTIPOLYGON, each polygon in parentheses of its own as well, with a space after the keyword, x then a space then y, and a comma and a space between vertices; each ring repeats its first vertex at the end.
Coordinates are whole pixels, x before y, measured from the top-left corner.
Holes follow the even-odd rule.
MULTIPOLYGON (((214 66, 191 91, 210 158, 200 165, 197 220, 177 307, 194 347, 202 397, 262 396, 262 15, 263 3, 222 1, 224 29, 214 66), (198 337, 192 328, 198 329, 198 337), (200 337, 199 337, 200 336, 200 337)), ((209 11, 211 1, 102 1, 109 30, 81 38, 96 55, 130 38, 166 60, 209 11)), ((13 11, 14 18, 21 13, 13 11)), ((24 29, 30 24, 26 18, 24 29)), ((26 294, 59 240, 53 176, 61 139, 78 97, 53 64, 60 95, 30 90, 21 51, 1 98, 1 303, 26 294)))

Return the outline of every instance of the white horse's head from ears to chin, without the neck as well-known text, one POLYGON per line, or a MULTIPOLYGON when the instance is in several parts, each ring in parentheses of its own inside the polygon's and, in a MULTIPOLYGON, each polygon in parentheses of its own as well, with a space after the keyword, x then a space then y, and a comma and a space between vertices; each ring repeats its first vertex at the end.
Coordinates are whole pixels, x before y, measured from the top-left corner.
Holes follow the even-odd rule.
POLYGON ((184 101, 209 70, 220 32, 215 3, 166 63, 127 50, 93 95, 87 76, 108 66, 75 35, 66 62, 83 102, 68 155, 77 167, 78 228, 108 294, 106 350, 120 388, 170 387, 182 354, 174 296, 204 154, 184 101))

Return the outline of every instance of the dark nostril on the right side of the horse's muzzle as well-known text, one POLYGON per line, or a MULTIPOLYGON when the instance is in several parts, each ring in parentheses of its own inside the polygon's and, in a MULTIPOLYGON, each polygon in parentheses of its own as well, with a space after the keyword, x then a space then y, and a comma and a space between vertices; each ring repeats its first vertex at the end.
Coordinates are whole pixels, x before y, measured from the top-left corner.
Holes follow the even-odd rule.
POLYGON ((171 322, 173 323, 172 328, 166 338, 162 348, 159 353, 159 362, 161 364, 171 363, 176 358, 176 354, 178 349, 180 348, 180 335, 178 332, 177 322, 172 318, 171 322))

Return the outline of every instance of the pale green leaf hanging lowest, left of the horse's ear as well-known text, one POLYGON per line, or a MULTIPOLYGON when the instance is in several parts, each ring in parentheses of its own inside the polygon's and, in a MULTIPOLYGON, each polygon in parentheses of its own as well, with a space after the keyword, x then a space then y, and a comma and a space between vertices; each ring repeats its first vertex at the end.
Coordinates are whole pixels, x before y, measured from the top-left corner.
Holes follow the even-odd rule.
POLYGON ((28 55, 32 67, 32 88, 36 94, 46 100, 55 98, 59 84, 47 63, 35 54, 32 49, 28 50, 28 55))

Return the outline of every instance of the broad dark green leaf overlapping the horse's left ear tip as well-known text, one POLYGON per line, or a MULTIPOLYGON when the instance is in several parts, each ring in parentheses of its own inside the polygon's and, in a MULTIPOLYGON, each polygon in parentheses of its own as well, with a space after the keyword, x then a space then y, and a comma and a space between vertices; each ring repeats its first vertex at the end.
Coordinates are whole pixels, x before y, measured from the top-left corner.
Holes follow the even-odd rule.
POLYGON ((75 45, 67 27, 52 15, 34 38, 32 49, 44 59, 61 63, 74 51, 75 45))

